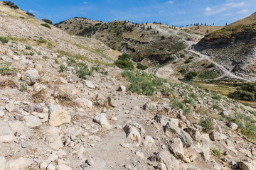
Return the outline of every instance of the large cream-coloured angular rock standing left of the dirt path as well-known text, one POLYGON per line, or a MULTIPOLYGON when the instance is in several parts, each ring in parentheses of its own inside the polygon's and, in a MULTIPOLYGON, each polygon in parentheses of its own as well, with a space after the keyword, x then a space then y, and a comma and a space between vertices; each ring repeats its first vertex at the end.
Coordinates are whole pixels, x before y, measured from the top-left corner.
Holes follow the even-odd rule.
POLYGON ((70 123, 71 116, 61 106, 50 104, 49 108, 49 124, 59 126, 64 123, 70 123))

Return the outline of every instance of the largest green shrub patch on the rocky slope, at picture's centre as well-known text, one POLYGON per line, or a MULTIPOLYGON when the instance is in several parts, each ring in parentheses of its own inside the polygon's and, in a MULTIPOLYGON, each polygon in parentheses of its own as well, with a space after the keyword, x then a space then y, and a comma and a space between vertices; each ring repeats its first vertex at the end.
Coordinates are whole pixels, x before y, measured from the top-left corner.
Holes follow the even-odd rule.
POLYGON ((128 86, 129 91, 137 94, 151 96, 155 91, 166 94, 169 89, 164 86, 165 79, 160 79, 152 74, 139 71, 124 71, 122 77, 126 78, 131 84, 128 86))

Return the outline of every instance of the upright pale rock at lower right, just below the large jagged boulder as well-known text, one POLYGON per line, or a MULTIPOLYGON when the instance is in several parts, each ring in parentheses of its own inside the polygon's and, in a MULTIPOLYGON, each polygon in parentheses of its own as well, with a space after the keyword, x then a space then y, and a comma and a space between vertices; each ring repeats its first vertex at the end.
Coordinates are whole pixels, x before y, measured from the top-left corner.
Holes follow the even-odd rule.
POLYGON ((175 157, 178 159, 183 159, 184 148, 180 138, 174 138, 169 142, 169 149, 174 153, 175 157))

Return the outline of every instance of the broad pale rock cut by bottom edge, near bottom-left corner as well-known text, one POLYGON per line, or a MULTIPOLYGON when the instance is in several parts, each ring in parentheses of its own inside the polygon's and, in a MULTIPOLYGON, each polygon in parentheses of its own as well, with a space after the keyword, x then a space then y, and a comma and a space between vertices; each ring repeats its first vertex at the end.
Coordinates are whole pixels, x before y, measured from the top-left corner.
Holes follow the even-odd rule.
POLYGON ((31 159, 20 157, 18 159, 12 159, 7 162, 5 170, 27 170, 31 164, 33 164, 31 159))

